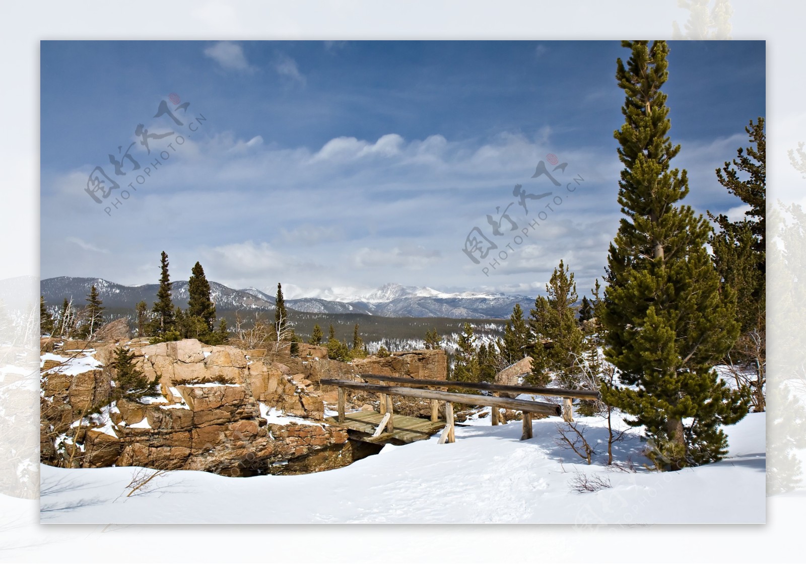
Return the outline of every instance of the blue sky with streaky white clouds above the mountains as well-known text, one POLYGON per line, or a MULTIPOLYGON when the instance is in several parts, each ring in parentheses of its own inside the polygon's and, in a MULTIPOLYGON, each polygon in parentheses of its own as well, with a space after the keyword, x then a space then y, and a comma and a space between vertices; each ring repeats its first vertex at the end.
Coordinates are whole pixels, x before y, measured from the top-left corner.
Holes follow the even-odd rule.
MULTIPOLYGON (((619 218, 627 56, 615 41, 43 42, 41 276, 154 282, 164 250, 175 280, 199 260, 211 280, 291 297, 386 282, 535 295, 564 259, 587 292, 619 218), (163 100, 189 102, 181 127, 152 117, 163 100), (141 123, 185 142, 152 139, 147 155, 141 123), (141 170, 123 160, 114 176, 108 155, 130 143, 141 170), (584 184, 483 272, 538 213, 513 185, 555 189, 530 178, 549 154, 584 184), (84 190, 97 165, 122 186, 102 204, 84 190), (486 215, 511 202, 519 228, 496 237, 486 215), (480 264, 462 252, 476 226, 500 243, 480 264)), ((671 42, 674 165, 700 212, 741 204, 713 171, 765 115, 765 57, 762 41, 671 42)))

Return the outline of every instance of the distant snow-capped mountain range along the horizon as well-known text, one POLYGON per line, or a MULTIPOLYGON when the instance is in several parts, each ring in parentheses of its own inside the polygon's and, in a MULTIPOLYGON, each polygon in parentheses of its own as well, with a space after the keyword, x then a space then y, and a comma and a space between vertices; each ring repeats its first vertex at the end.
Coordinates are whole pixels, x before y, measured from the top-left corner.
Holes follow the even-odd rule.
MULTIPOLYGON (((58 276, 40 282, 40 292, 48 305, 60 306, 64 298, 83 305, 92 285, 107 308, 134 309, 139 301, 149 307, 156 301, 159 284, 124 286, 101 278, 58 276)), ((502 319, 509 317, 515 304, 529 311, 534 298, 509 296, 488 292, 439 292, 433 288, 384 284, 368 292, 339 294, 322 291, 324 297, 286 299, 289 309, 308 313, 365 313, 382 317, 452 317, 455 319, 502 319)), ((210 297, 221 311, 274 310, 274 297, 257 288, 235 290, 210 281, 210 297)), ((176 305, 186 307, 187 280, 173 283, 172 298, 176 305)))

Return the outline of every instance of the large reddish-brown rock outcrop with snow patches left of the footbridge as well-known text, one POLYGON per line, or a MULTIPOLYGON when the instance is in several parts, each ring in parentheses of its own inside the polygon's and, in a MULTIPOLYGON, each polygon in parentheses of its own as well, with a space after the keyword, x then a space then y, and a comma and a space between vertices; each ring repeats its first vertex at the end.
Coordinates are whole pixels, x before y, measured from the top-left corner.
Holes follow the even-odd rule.
MULTIPOLYGON (((118 346, 115 342, 92 344, 93 358, 104 365, 118 346)), ((444 379, 447 371, 441 350, 350 364, 316 356, 322 350, 314 346, 305 349, 310 355, 286 355, 276 362, 276 355, 262 350, 207 346, 196 339, 154 345, 135 339, 122 345, 134 352, 143 375, 159 380, 161 395, 143 403, 118 400, 104 412, 108 421, 94 418, 89 424, 71 427, 82 410, 109 404, 114 371, 91 366, 75 374, 60 371, 60 363, 52 359, 65 353, 59 351, 59 342, 53 342, 56 355, 44 355, 42 366, 43 425, 49 427, 43 431, 45 462, 57 456, 52 448, 55 442, 45 437, 61 433, 62 437, 75 435, 81 443, 83 450, 73 462, 79 467, 142 466, 254 475, 343 466, 366 456, 369 447, 354 445, 345 429, 323 421, 326 404, 336 402, 336 391, 322 387, 320 379, 358 379, 359 371, 444 379)), ((376 394, 352 394, 348 401, 355 408, 377 407, 376 394)), ((395 409, 430 415, 428 402, 409 398, 395 398, 395 409)))

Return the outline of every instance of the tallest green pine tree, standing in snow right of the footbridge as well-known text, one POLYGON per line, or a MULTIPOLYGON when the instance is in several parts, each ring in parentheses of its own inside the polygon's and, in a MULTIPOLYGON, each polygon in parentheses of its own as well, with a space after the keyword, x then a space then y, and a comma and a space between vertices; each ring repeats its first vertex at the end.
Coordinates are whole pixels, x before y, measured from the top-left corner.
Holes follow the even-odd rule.
MULTIPOLYGON (((605 355, 628 387, 603 399, 646 425, 664 466, 677 470, 718 460, 725 433, 744 417, 746 398, 717 379, 714 363, 737 338, 729 288, 705 249, 710 227, 688 205, 685 171, 670 170, 680 150, 667 133, 667 44, 625 41, 627 64, 617 61, 626 97, 621 147, 621 218, 610 245, 603 325, 605 355), (685 422, 685 421, 690 421, 685 422)), ((604 394, 603 394, 604 395, 604 394)))

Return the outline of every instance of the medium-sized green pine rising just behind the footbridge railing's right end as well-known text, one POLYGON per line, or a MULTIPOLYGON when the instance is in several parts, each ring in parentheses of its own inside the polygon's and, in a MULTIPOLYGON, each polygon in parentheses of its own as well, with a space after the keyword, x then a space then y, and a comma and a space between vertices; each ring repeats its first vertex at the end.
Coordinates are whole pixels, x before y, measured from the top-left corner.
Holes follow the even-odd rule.
POLYGON ((538 296, 530 311, 529 326, 536 339, 530 384, 544 385, 547 375, 554 373, 564 388, 577 387, 583 334, 576 321, 576 298, 574 273, 560 260, 546 284, 546 296, 538 296))

